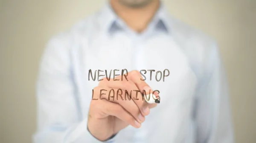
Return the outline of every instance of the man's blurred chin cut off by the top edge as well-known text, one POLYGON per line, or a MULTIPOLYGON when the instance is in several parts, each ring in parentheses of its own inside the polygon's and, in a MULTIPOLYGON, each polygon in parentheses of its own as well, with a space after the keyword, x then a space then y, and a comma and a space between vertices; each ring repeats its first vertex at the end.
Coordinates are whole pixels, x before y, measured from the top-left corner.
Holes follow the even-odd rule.
POLYGON ((122 5, 133 7, 133 8, 140 8, 146 6, 152 0, 119 0, 122 5))

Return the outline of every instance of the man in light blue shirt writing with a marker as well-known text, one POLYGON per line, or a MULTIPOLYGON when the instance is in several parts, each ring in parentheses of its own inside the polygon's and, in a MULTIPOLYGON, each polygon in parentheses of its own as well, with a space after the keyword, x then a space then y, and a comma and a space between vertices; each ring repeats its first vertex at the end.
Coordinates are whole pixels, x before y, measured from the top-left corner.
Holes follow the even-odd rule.
POLYGON ((53 37, 37 94, 35 143, 233 143, 215 42, 160 0, 110 0, 53 37), (153 90, 160 104, 143 100, 153 90))

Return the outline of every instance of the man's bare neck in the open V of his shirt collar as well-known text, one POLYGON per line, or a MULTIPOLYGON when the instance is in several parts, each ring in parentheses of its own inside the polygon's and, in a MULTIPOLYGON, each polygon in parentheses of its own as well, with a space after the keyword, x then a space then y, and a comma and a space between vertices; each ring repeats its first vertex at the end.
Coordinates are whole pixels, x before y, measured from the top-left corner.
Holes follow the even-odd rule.
POLYGON ((160 0, 152 0, 151 3, 140 8, 124 6, 119 3, 119 0, 111 0, 110 3, 115 13, 122 18, 132 30, 138 33, 147 28, 160 6, 160 0))

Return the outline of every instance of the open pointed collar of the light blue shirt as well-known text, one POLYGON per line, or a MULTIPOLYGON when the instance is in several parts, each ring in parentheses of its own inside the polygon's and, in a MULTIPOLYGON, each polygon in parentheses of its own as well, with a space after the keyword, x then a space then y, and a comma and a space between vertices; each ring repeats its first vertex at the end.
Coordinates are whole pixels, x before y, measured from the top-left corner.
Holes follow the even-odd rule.
MULTIPOLYGON (((102 30, 107 33, 118 30, 120 28, 118 25, 119 19, 120 18, 113 11, 111 4, 106 3, 99 15, 99 23, 102 30)), ((170 32, 169 14, 163 5, 163 2, 160 3, 160 7, 151 22, 154 22, 157 30, 170 32)))

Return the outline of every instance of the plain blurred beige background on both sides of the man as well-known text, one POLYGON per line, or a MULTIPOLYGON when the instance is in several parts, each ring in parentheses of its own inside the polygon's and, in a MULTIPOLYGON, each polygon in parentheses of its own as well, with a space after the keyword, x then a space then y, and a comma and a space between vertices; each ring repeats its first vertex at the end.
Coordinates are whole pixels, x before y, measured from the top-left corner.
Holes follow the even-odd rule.
MULTIPOLYGON (((178 19, 220 46, 236 143, 256 143, 256 0, 164 0, 178 19)), ((49 38, 106 0, 0 0, 0 143, 31 143, 35 81, 49 38)))

